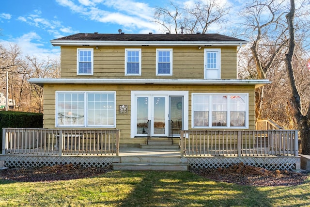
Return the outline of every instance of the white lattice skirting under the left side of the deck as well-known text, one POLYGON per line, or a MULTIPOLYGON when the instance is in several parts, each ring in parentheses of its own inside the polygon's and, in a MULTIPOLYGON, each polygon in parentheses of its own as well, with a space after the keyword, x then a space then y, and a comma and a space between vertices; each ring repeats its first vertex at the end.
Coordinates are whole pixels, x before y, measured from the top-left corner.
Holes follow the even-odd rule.
POLYGON ((1 156, 6 167, 42 167, 57 164, 73 164, 80 167, 102 167, 109 168, 113 157, 48 157, 48 156, 1 156))

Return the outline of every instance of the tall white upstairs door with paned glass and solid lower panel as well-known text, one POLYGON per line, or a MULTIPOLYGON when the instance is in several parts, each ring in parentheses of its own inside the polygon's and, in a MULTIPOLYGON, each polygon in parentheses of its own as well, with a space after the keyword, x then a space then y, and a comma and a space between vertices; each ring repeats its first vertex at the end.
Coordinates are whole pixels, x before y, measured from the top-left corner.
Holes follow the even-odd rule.
POLYGON ((204 49, 204 79, 220 79, 221 49, 204 49))

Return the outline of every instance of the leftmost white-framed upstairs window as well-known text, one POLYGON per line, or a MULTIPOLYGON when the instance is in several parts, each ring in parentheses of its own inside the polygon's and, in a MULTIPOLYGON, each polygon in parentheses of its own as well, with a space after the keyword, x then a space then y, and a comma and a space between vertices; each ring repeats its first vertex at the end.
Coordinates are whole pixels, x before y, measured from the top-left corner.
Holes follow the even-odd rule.
POLYGON ((93 48, 78 48, 78 75, 93 75, 93 48))

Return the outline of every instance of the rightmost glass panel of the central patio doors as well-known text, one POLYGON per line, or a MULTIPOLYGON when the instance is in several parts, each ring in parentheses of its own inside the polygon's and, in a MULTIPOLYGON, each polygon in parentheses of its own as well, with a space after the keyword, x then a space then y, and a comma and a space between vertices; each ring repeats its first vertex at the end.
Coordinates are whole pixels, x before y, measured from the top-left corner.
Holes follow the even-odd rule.
POLYGON ((180 130, 183 129, 183 108, 183 96, 169 97, 170 136, 180 136, 180 130))

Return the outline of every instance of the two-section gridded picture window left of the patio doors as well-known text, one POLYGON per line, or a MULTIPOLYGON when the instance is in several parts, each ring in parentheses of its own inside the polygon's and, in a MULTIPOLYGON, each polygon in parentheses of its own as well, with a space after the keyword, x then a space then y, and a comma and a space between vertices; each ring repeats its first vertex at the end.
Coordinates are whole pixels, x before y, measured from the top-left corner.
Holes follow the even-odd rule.
POLYGON ((115 127, 115 92, 56 92, 56 127, 115 127))

